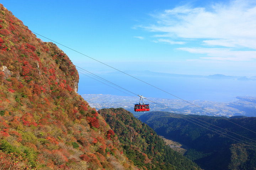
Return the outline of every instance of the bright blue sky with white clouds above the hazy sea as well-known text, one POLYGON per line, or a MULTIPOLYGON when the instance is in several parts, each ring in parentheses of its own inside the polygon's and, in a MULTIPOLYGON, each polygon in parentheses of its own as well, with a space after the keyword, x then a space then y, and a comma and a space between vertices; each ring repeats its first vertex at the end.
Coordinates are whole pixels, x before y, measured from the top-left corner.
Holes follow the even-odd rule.
MULTIPOLYGON (((33 32, 122 71, 256 76, 255 0, 1 3, 33 32)), ((115 71, 58 46, 77 66, 115 71)))

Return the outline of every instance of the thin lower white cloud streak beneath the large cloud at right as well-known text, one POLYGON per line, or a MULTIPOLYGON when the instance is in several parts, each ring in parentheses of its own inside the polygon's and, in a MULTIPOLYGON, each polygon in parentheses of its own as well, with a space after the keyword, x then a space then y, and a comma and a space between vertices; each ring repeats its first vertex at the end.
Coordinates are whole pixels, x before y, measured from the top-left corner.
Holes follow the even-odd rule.
POLYGON ((233 49, 220 48, 178 48, 177 50, 190 53, 207 54, 209 57, 200 57, 207 60, 219 61, 251 61, 256 59, 256 51, 235 51, 233 49))

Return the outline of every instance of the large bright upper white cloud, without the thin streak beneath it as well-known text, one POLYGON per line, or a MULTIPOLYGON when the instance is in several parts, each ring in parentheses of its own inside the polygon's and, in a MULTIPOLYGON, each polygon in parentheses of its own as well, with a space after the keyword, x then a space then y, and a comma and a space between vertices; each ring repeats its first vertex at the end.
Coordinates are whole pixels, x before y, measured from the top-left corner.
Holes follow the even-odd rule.
POLYGON ((209 9, 180 6, 152 16, 157 19, 157 24, 144 28, 165 33, 166 36, 193 39, 256 38, 256 6, 249 1, 215 4, 209 9))

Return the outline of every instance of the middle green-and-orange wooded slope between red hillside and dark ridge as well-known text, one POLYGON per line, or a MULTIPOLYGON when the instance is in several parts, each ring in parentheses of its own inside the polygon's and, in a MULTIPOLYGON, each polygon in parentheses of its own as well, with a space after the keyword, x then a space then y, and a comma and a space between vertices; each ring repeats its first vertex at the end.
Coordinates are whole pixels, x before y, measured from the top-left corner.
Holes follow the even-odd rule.
POLYGON ((98 111, 117 134, 124 154, 142 169, 199 169, 191 160, 173 151, 145 123, 123 108, 98 111))

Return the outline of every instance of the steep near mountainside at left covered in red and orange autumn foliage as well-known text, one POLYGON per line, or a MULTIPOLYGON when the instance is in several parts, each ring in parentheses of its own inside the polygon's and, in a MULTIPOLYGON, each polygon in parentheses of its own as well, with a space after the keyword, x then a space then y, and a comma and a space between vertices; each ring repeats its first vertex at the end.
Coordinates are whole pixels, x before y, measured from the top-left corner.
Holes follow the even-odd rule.
POLYGON ((138 169, 78 80, 62 50, 0 5, 1 169, 138 169))

